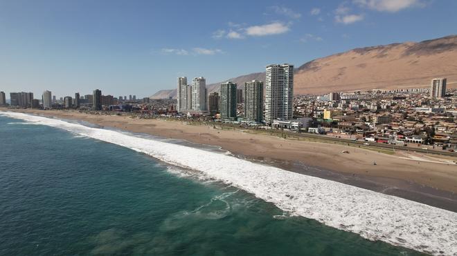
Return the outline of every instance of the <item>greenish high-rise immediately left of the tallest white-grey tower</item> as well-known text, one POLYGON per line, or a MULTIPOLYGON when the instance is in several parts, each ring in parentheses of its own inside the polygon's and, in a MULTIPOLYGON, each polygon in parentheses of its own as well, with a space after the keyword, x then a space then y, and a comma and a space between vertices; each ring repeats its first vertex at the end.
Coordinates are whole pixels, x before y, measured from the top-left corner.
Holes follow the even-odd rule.
POLYGON ((262 123, 263 83, 252 80, 244 83, 244 120, 249 123, 262 123))

